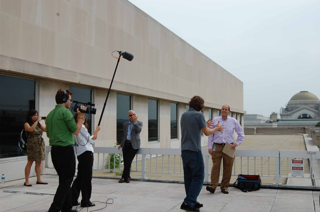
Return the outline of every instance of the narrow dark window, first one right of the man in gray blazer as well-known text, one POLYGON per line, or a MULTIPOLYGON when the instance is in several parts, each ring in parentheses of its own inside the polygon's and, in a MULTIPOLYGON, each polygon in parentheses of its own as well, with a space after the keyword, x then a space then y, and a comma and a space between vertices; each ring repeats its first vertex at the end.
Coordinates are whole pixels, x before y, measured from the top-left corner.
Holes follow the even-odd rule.
POLYGON ((148 99, 148 141, 158 140, 158 101, 148 99))

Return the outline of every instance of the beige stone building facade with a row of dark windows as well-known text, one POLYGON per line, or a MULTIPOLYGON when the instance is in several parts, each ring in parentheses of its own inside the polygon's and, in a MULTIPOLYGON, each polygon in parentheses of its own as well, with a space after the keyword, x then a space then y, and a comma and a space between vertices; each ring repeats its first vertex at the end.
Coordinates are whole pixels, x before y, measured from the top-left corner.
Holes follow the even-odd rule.
MULTIPOLYGON (((24 178, 27 159, 17 139, 27 111, 46 116, 58 89, 95 103, 97 114, 87 117, 94 130, 115 50, 134 59, 120 60, 94 146, 113 147, 132 109, 143 122, 141 147, 179 148, 179 120, 194 95, 204 98, 207 120, 228 104, 243 125, 243 82, 129 1, 2 0, 0 172, 8 170, 6 179, 24 178)), ((202 143, 207 141, 203 136, 202 143)))

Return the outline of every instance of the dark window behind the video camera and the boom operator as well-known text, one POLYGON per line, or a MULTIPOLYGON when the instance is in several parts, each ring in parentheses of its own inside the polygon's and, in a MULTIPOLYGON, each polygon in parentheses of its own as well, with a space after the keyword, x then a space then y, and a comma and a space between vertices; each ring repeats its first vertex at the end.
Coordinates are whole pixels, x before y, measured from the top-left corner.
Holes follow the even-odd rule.
MULTIPOLYGON (((73 100, 77 100, 78 102, 83 102, 83 103, 92 101, 92 92, 90 89, 69 86, 69 90, 73 93, 71 96, 71 99, 72 99, 71 107, 74 107, 76 105, 76 103, 73 103, 73 100)), ((78 104, 78 105, 81 106, 83 104, 78 104)), ((71 111, 72 115, 74 115, 76 112, 74 112, 71 107, 69 108, 69 110, 71 111)), ((93 106, 87 106, 87 107, 94 108, 93 106)), ((88 132, 90 133, 90 135, 92 135, 91 133, 92 114, 85 114, 85 118, 87 119, 87 123, 89 126, 88 132)))

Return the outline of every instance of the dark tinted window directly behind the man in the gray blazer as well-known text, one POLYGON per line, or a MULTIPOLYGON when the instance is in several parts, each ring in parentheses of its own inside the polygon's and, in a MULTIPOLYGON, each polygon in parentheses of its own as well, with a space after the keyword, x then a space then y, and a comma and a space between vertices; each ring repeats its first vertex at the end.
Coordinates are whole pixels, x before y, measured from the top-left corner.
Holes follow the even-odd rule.
POLYGON ((122 142, 123 124, 130 119, 128 112, 131 110, 131 96, 117 94, 117 143, 122 142))

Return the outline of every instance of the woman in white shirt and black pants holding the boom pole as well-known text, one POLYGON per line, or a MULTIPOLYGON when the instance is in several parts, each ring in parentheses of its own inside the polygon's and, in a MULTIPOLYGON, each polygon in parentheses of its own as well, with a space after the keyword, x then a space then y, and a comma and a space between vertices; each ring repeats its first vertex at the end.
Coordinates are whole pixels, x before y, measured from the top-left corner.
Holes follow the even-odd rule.
POLYGON ((78 172, 77 177, 73 181, 71 186, 72 191, 72 206, 79 205, 78 198, 80 191, 82 194, 82 200, 80 207, 92 207, 94 203, 90 201, 92 191, 92 165, 93 165, 93 148, 92 143, 97 139, 98 131, 100 126, 96 127, 93 135, 88 132, 88 124, 85 116, 80 116, 79 113, 75 113, 74 119, 76 123, 79 119, 84 119, 84 124, 80 130, 79 135, 75 135, 75 141, 79 146, 77 152, 78 159, 78 172))

